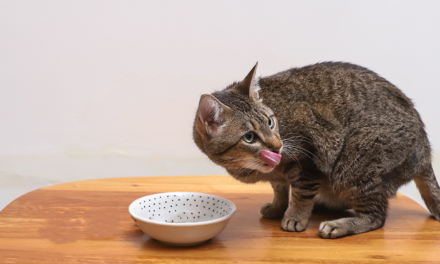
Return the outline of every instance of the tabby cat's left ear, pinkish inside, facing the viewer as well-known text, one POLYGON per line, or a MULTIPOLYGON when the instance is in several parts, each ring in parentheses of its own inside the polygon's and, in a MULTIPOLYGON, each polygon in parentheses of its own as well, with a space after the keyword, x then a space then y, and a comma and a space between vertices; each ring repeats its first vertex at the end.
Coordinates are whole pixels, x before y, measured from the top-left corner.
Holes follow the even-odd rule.
POLYGON ((211 94, 204 94, 198 103, 198 118, 204 125, 206 132, 211 136, 217 136, 225 123, 225 111, 229 107, 221 103, 211 94))

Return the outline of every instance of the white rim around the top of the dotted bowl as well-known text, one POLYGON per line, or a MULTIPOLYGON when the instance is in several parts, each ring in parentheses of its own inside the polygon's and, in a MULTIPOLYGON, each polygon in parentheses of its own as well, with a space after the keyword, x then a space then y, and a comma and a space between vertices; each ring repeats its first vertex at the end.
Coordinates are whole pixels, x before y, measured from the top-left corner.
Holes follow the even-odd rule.
POLYGON ((226 220, 228 218, 231 218, 233 215, 235 215, 235 213, 237 212, 237 206, 235 205, 235 203, 233 203, 231 200, 226 199, 224 197, 221 196, 217 196, 217 195, 212 195, 212 194, 205 194, 205 193, 196 193, 196 192, 167 192, 167 193, 157 193, 157 194, 152 194, 152 195, 147 195, 141 198, 137 198, 134 201, 132 201, 132 203, 129 205, 129 212, 132 215, 132 217, 136 220, 141 220, 143 222, 147 222, 147 223, 151 223, 151 224, 157 224, 157 225, 170 225, 170 226, 195 226, 195 225, 204 225, 204 224, 212 224, 212 223, 217 223, 217 222, 221 222, 223 220, 226 220), (229 201, 232 204, 232 212, 217 218, 217 219, 213 219, 213 220, 207 220, 207 221, 200 221, 200 222, 185 222, 185 223, 176 223, 176 222, 162 222, 162 221, 157 221, 157 220, 152 220, 152 219, 146 219, 143 217, 140 217, 138 215, 136 215, 136 213, 134 212, 134 204, 137 204, 137 202, 139 200, 143 200, 146 197, 151 197, 151 196, 156 196, 156 195, 176 195, 176 194, 192 194, 192 195, 209 195, 212 196, 213 198, 222 198, 225 199, 227 201, 229 201))

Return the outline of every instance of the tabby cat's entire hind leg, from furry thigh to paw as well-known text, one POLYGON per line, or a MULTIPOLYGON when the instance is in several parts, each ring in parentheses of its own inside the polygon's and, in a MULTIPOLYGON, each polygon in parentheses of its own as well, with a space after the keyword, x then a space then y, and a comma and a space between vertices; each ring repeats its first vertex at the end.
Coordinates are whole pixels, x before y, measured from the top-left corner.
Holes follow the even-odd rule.
POLYGON ((385 224, 388 198, 395 196, 398 186, 404 182, 400 178, 402 171, 394 172, 393 168, 404 168, 405 159, 411 156, 410 146, 396 150, 396 138, 399 144, 414 142, 410 135, 384 132, 376 126, 352 132, 330 175, 330 190, 344 196, 356 215, 322 222, 319 233, 323 238, 369 232, 385 224), (409 137, 404 138, 405 135, 409 137))

